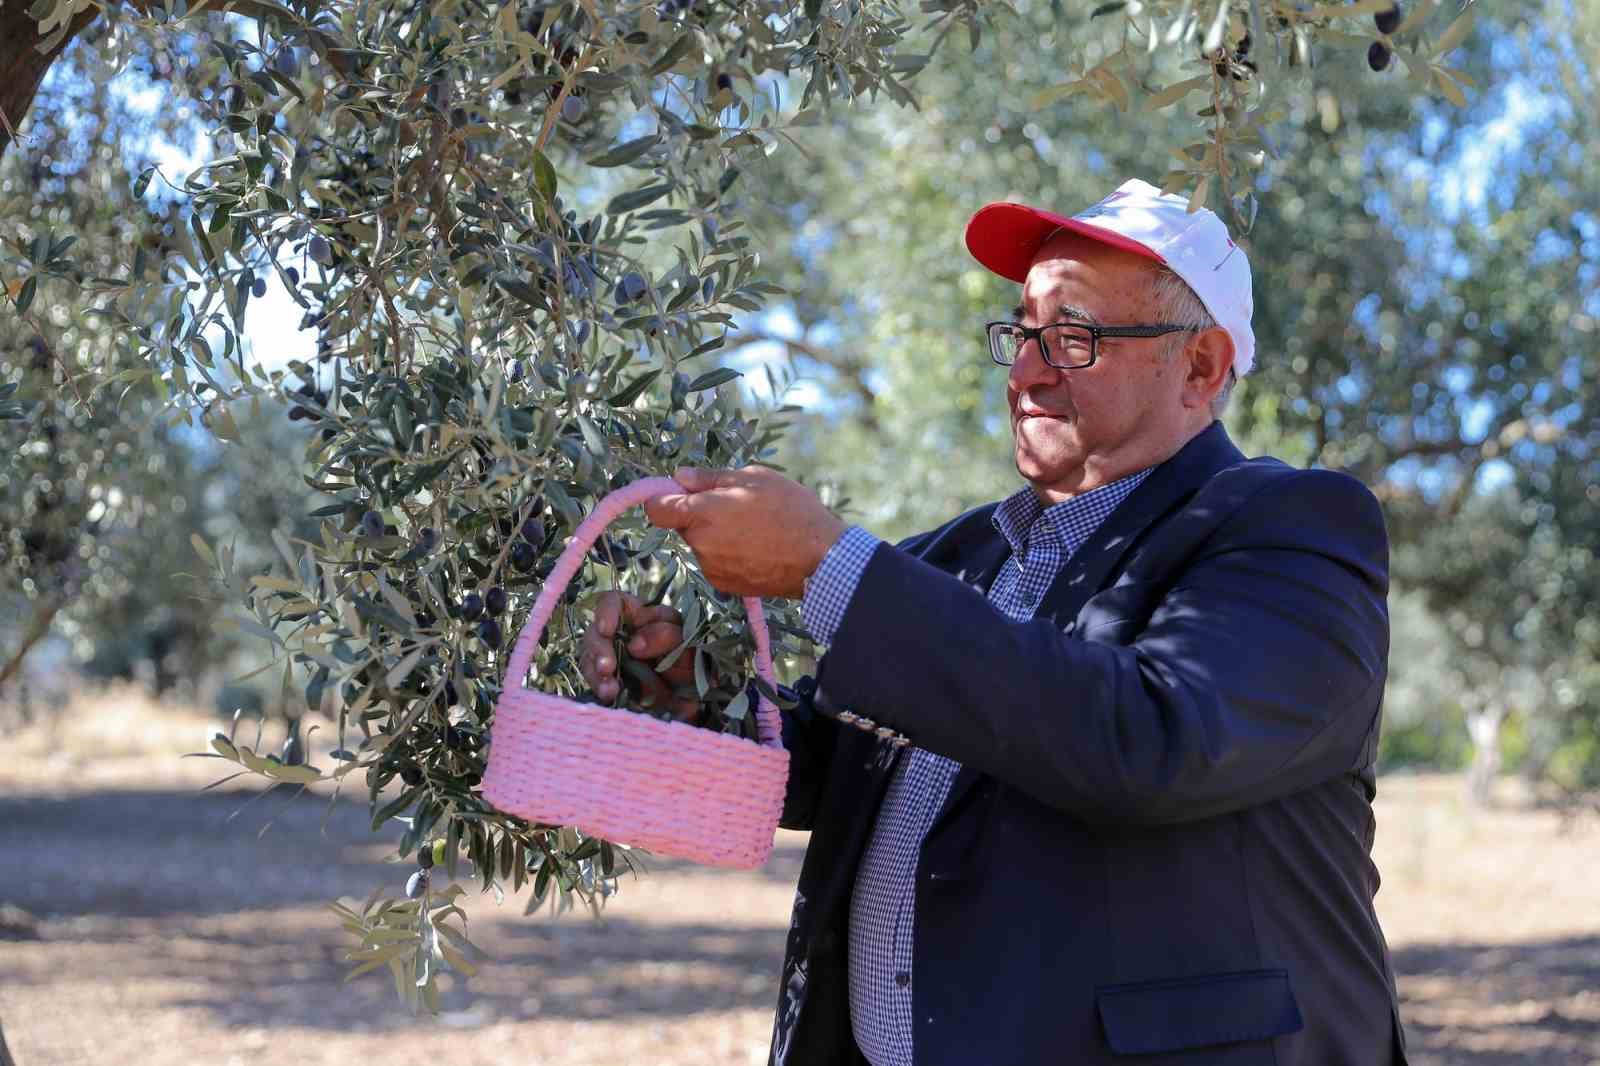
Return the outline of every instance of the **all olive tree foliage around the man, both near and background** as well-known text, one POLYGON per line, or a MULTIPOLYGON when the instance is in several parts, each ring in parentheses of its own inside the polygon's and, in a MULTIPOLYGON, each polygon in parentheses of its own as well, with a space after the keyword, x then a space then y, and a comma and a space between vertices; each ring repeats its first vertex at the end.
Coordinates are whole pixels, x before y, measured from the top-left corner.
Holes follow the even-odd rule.
MULTIPOLYGON (((885 536, 1010 491, 976 327, 1011 295, 962 224, 1144 176, 1253 222, 1230 429, 1386 501, 1386 762, 1594 786, 1600 16, 1408 5, 1379 42, 1382 6, 35 5, 67 32, 26 118, 21 78, 3 102, 5 680, 53 632, 94 672, 251 672, 224 711, 333 715, 331 765, 248 731, 213 754, 362 787, 403 855, 438 840, 437 892, 346 916, 426 1002, 466 965, 469 860, 530 906, 627 861, 474 792, 565 531, 680 463, 782 463, 885 536), (496 587, 502 613, 469 603, 496 587)), ((640 522, 538 683, 582 695, 610 584, 699 618, 728 703, 738 605, 640 522)))

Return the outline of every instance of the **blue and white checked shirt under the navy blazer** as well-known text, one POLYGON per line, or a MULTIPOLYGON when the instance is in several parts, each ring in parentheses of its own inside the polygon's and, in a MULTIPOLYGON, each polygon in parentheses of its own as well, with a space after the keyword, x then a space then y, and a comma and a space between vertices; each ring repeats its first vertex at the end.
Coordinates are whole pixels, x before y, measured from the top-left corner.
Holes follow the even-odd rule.
MULTIPOLYGON (((995 530, 1011 544, 989 602, 1029 621, 1072 554, 1150 471, 1045 507, 1024 488, 995 507, 995 530)), ((880 541, 850 527, 806 583, 802 613, 818 643, 830 643, 880 541)), ((859 707, 872 715, 872 707, 859 707)), ((856 872, 850 903, 850 1024, 872 1066, 914 1066, 912 943, 917 856, 962 763, 909 747, 894 765, 878 823, 856 872)))

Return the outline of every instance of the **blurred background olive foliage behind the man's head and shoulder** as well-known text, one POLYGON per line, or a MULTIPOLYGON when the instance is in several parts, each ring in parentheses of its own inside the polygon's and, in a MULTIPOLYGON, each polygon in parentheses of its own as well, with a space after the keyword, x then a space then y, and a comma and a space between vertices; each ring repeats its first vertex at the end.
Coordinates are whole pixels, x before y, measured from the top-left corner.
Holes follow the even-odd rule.
MULTIPOLYGON (((1520 707, 1526 771, 1576 784, 1600 768, 1586 623, 1600 261, 1584 208, 1600 192, 1586 162, 1600 37, 1582 32, 1587 11, 1563 32, 1571 14, 1482 11, 1459 64, 1486 88, 1464 109, 1398 94, 1365 66, 1317 69, 1272 130, 1288 162, 1256 186, 1243 243, 1261 359, 1227 419, 1248 451, 1347 469, 1386 501, 1408 605, 1386 757, 1459 763, 1459 696, 1480 693, 1520 707), (1416 632, 1435 634, 1442 671, 1416 655, 1416 632), (1501 655, 1485 658, 1474 634, 1486 632, 1504 634, 1501 655)), ((928 528, 1014 485, 1000 371, 979 338, 1014 288, 960 246, 968 214, 997 198, 1072 210, 1126 176, 1158 179, 1147 142, 1181 128, 1107 122, 1083 99, 1019 107, 984 72, 1050 32, 1045 13, 997 29, 920 75, 922 122, 842 114, 803 138, 813 170, 762 174, 752 224, 795 295, 760 335, 827 397, 784 456, 842 477, 877 533, 928 528)))

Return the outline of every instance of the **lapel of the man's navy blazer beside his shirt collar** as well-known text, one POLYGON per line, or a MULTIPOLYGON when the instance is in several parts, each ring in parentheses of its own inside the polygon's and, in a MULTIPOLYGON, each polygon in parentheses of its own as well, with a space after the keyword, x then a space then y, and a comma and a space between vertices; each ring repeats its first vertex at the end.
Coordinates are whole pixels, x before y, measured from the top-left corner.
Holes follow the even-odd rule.
MULTIPOLYGON (((1211 423, 1178 455, 1150 471, 1150 475, 1110 512, 1083 547, 1074 552, 1067 565, 1056 575, 1034 618, 1053 618, 1056 623, 1075 618, 1083 610, 1083 603, 1106 584, 1112 570, 1128 554, 1141 533, 1154 527, 1168 511, 1181 506, 1218 471, 1240 463, 1243 458, 1245 455, 1229 440, 1222 423, 1211 423)), ((984 592, 989 591, 1010 554, 1003 536, 997 533, 994 539, 1000 541, 1002 551, 982 586, 984 592)), ((944 799, 944 807, 939 808, 939 816, 934 818, 930 832, 938 829, 939 823, 955 810, 957 804, 982 776, 981 770, 962 767, 955 781, 950 783, 950 794, 944 799)))

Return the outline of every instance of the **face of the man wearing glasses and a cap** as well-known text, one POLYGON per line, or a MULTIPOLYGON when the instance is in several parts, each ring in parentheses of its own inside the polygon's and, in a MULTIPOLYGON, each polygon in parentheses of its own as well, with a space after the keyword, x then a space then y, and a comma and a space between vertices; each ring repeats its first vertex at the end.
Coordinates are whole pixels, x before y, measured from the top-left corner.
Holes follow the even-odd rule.
MULTIPOLYGON (((1022 283, 1022 323, 1155 323, 1150 266, 1056 234, 1022 283)), ((1024 346, 1006 381, 1016 469, 1048 503, 1160 463, 1182 443, 1184 360, 1163 357, 1170 339, 1101 338, 1099 359, 1082 370, 1056 370, 1037 343, 1024 346)))

